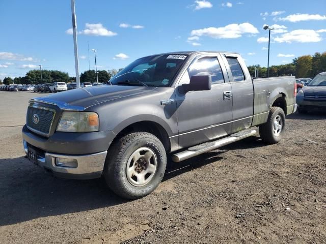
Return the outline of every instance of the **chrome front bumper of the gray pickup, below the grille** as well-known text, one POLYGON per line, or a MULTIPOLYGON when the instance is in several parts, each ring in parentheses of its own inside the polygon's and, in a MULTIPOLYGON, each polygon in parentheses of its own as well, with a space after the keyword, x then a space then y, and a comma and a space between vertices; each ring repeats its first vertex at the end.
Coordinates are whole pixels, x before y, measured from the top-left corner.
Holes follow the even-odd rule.
MULTIPOLYGON (((29 144, 23 140, 23 146, 26 155, 28 154, 29 144)), ((32 145, 31 145, 32 146, 32 145)), ((32 146, 33 147, 33 146, 32 146)), ((35 147, 34 147, 35 148, 35 147)), ((35 148, 38 150, 38 148, 35 148)), ((104 162, 107 151, 101 151, 95 154, 84 155, 65 155, 65 154, 53 154, 45 151, 38 150, 36 156, 36 164, 43 167, 47 171, 53 173, 53 175, 61 178, 70 179, 92 179, 99 178, 102 175, 104 168, 104 162), (74 159, 77 161, 76 167, 64 167, 56 165, 56 160, 61 159, 74 159)))

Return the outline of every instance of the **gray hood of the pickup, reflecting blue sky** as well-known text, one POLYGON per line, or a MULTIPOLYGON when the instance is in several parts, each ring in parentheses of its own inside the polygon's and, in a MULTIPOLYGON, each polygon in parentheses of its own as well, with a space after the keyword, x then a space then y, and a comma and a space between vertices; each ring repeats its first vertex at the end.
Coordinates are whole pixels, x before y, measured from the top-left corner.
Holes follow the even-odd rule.
POLYGON ((99 103, 138 94, 147 94, 155 88, 123 85, 90 86, 51 94, 42 98, 34 98, 33 101, 56 104, 64 109, 84 110, 99 103))

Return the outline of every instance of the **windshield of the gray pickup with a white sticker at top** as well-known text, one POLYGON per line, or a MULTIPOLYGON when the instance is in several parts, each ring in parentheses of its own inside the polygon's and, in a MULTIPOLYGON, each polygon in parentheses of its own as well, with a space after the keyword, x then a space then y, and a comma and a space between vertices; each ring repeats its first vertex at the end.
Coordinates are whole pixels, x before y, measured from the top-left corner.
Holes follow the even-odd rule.
POLYGON ((110 81, 112 85, 162 86, 171 84, 187 55, 165 54, 135 60, 110 81))

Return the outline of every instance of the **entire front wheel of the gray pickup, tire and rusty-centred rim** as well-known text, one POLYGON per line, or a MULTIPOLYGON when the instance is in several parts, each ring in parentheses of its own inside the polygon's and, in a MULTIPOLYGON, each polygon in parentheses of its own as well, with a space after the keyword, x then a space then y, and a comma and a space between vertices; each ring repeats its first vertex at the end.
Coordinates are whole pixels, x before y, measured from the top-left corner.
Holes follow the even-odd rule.
POLYGON ((137 199, 156 189, 166 165, 161 141, 150 133, 134 132, 119 138, 108 150, 103 174, 114 193, 137 199))

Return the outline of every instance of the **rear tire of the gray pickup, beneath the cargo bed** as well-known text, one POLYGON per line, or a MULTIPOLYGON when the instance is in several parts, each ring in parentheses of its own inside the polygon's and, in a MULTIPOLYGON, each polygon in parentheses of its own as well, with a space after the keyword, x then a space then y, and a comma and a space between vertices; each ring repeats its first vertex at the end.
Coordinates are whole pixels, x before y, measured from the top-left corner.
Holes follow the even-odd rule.
POLYGON ((266 143, 276 144, 282 139, 284 129, 285 129, 285 114, 283 109, 280 107, 271 107, 267 122, 259 126, 260 138, 266 143), (275 129, 274 123, 277 118, 280 118, 282 123, 282 128, 279 133, 274 132, 275 129))

